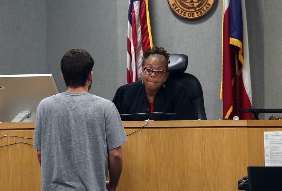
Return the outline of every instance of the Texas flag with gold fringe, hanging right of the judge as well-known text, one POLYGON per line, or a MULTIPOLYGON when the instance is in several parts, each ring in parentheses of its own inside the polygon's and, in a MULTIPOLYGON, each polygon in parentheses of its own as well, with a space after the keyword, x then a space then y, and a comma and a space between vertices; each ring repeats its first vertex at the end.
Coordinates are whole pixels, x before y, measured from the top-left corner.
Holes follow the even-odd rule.
MULTIPOLYGON (((245 0, 223 0, 222 33, 222 115, 232 118, 238 109, 252 108, 245 0)), ((252 114, 239 118, 252 119, 252 114)))

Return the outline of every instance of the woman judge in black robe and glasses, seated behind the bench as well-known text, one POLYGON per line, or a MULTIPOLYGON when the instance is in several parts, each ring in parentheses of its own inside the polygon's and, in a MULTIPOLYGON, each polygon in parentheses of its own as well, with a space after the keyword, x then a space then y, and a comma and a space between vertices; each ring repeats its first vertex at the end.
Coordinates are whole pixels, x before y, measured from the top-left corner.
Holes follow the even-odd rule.
POLYGON ((123 116, 123 121, 197 120, 194 102, 183 84, 169 82, 169 53, 164 48, 153 46, 142 58, 143 80, 126 84, 117 89, 113 103, 120 114, 164 112, 176 113, 123 116))

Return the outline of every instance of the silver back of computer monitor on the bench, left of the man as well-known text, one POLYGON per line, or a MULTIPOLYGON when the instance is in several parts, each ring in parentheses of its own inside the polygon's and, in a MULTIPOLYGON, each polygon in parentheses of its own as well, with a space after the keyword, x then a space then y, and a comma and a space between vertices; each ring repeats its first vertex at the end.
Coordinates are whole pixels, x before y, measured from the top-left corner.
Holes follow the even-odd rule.
POLYGON ((0 122, 34 122, 40 101, 58 93, 52 74, 0 75, 0 122))

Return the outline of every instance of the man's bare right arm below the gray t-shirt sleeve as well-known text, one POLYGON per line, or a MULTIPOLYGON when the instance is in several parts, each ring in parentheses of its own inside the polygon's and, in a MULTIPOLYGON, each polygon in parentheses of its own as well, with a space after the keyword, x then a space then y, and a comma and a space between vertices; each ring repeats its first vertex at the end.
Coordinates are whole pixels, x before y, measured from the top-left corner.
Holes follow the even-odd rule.
POLYGON ((107 189, 114 191, 117 187, 122 171, 122 149, 121 146, 108 151, 110 182, 107 182, 107 189))

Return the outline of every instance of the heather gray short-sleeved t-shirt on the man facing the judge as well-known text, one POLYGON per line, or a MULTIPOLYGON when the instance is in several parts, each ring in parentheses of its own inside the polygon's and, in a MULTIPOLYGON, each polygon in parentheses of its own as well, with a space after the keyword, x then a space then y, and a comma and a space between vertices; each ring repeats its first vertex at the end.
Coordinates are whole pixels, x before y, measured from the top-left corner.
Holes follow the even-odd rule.
POLYGON ((115 105, 63 92, 37 108, 33 147, 41 150, 42 191, 107 190, 108 150, 127 137, 115 105))

